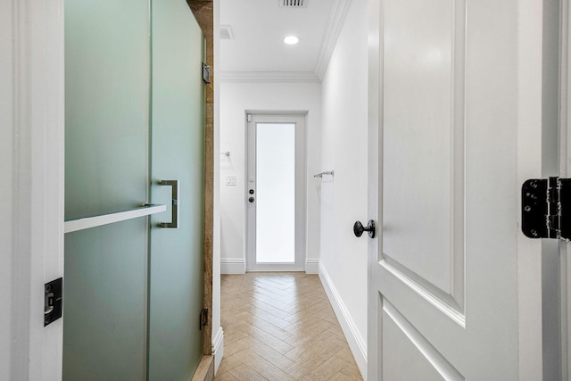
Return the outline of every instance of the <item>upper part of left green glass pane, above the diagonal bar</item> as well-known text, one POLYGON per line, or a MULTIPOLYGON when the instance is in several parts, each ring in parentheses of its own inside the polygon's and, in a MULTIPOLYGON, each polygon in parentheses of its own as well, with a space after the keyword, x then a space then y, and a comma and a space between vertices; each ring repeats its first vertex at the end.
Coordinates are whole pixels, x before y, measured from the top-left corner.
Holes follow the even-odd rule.
POLYGON ((146 0, 65 1, 65 219, 145 203, 146 0))

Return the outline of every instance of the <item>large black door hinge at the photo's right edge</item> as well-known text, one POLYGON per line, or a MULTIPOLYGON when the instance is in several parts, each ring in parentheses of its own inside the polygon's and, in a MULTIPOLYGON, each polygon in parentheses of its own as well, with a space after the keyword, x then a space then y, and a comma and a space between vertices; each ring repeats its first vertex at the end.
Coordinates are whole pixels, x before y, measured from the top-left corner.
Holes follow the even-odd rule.
POLYGON ((521 230, 530 238, 571 238, 571 178, 532 178, 521 187, 521 230))

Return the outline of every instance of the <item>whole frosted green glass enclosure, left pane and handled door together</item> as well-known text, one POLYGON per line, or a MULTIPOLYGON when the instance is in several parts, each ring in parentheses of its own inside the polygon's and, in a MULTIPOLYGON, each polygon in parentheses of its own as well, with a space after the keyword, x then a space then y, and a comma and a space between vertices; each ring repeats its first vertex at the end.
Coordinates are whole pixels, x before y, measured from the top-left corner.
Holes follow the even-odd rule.
POLYGON ((65 0, 63 379, 189 380, 202 356, 204 40, 185 0, 65 0), (178 228, 171 188, 178 180, 178 228), (66 225, 67 226, 67 225, 66 225))

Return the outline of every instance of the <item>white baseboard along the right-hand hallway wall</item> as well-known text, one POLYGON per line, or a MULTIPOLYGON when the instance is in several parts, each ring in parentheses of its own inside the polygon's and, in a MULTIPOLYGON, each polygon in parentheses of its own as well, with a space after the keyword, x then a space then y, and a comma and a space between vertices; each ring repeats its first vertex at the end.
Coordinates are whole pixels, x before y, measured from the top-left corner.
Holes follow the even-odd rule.
POLYGON ((349 348, 351 348, 353 357, 357 362, 360 374, 363 379, 367 379, 367 341, 360 335, 351 314, 347 310, 343 299, 341 299, 341 295, 337 292, 337 289, 329 277, 329 274, 327 274, 327 269, 325 269, 322 262, 319 262, 319 279, 321 279, 321 283, 323 284, 323 288, 329 298, 329 302, 331 302, 331 306, 335 311, 337 320, 339 320, 339 325, 343 329, 343 334, 345 335, 349 348))

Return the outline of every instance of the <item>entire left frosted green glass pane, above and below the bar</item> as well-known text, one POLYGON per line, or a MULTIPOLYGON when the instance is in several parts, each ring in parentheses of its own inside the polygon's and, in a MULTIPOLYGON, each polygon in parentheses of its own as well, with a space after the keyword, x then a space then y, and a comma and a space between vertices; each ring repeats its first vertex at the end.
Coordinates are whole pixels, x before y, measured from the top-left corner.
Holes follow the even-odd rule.
MULTIPOLYGON (((65 0, 65 219, 147 200, 148 13, 146 0, 65 0)), ((145 379, 147 226, 65 236, 64 379, 145 379)))

